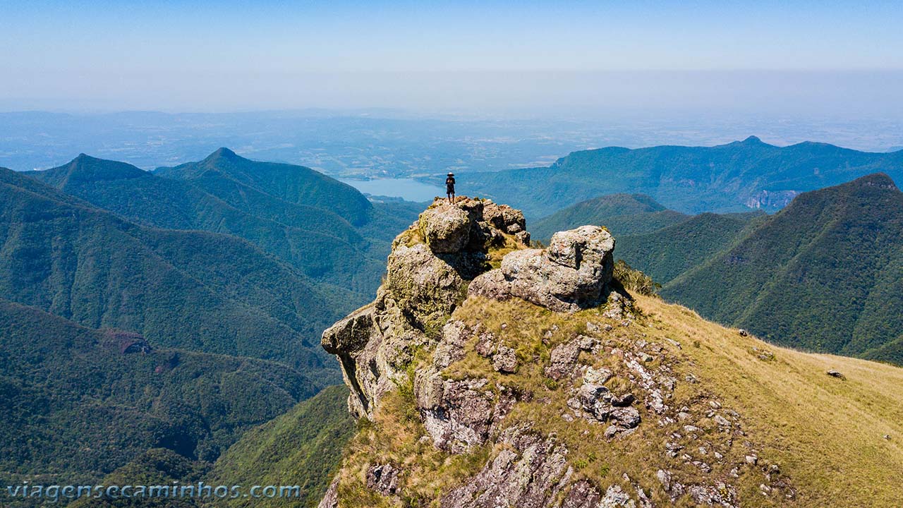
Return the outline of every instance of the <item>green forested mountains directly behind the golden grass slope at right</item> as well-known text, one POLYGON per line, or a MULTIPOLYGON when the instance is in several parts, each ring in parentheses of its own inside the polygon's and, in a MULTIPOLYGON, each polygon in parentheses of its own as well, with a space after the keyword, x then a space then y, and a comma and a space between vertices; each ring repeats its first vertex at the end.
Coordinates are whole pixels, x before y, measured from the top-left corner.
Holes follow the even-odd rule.
POLYGON ((664 207, 650 198, 625 207, 638 210, 627 222, 611 212, 627 199, 579 203, 537 228, 611 224, 617 257, 668 300, 773 343, 903 363, 903 193, 888 175, 802 193, 771 216, 672 212, 658 229, 664 207))

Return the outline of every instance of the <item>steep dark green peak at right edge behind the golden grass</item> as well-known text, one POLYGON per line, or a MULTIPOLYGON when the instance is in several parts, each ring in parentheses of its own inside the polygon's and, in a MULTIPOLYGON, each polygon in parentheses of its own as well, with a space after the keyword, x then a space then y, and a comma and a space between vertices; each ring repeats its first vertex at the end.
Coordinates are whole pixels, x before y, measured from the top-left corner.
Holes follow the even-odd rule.
POLYGON ((772 342, 903 362, 885 345, 903 329, 901 267, 903 193, 871 174, 798 196, 662 295, 772 342))

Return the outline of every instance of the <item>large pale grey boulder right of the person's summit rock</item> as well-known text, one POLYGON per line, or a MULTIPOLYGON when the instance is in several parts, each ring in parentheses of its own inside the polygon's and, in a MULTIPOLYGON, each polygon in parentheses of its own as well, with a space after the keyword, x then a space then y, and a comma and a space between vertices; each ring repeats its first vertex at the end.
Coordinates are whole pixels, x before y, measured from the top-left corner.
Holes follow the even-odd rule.
POLYGON ((508 253, 501 268, 470 283, 470 294, 523 298, 558 312, 598 306, 609 291, 614 239, 598 226, 582 226, 553 235, 548 249, 508 253))

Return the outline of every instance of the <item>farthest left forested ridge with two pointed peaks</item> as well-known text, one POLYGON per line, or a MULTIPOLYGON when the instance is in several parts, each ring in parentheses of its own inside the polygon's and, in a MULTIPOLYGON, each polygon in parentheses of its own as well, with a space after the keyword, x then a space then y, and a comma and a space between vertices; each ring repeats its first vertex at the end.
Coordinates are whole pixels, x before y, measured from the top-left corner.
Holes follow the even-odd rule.
POLYGON ((225 148, 200 163, 153 174, 88 155, 27 174, 127 221, 242 238, 311 278, 360 293, 356 303, 372 295, 382 272, 391 238, 379 226, 398 230, 416 216, 397 206, 373 205, 307 168, 257 163, 225 148), (280 173, 296 182, 276 185, 280 173), (284 199, 286 189, 298 192, 293 201, 284 199), (356 225, 340 215, 351 207, 359 209, 346 214, 356 225))

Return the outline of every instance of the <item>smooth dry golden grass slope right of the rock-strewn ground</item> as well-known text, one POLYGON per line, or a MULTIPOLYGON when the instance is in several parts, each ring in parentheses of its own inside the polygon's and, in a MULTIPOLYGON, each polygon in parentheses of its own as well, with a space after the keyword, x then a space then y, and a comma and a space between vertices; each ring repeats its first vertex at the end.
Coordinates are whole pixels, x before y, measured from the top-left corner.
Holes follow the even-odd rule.
POLYGON ((903 369, 773 346, 656 298, 641 296, 638 306, 650 338, 683 343, 700 384, 743 415, 760 456, 786 472, 799 503, 903 505, 903 369), (754 347, 774 360, 760 360, 754 347))

